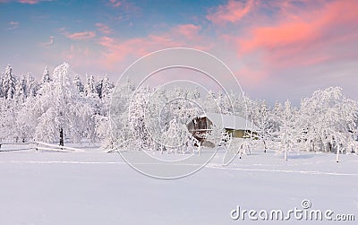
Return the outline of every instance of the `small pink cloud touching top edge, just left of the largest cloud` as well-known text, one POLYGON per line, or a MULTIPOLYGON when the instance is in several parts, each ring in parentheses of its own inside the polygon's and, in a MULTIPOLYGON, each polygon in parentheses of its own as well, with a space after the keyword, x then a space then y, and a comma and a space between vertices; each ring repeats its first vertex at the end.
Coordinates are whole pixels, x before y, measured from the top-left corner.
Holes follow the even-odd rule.
POLYGON ((247 0, 245 3, 229 0, 227 4, 217 6, 206 18, 217 25, 223 25, 226 22, 238 22, 251 12, 254 4, 254 0, 247 0))

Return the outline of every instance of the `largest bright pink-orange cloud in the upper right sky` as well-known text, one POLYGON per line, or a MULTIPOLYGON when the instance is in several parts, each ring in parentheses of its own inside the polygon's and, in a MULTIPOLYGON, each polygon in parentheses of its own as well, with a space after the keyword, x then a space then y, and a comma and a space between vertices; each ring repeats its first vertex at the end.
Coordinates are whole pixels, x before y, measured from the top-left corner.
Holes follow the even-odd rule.
POLYGON ((358 41, 354 32, 358 13, 352 10, 358 8, 357 1, 319 6, 307 2, 301 11, 293 5, 284 7, 285 13, 272 25, 252 26, 246 37, 231 37, 239 56, 259 54, 262 63, 276 68, 315 65, 334 57, 342 60, 339 48, 350 49, 358 41))

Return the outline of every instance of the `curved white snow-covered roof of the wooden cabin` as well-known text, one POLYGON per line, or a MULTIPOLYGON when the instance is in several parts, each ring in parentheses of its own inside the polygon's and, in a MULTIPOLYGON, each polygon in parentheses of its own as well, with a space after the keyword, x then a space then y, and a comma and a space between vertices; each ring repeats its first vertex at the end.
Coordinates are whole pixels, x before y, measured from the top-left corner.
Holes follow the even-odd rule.
POLYGON ((223 126, 226 129, 256 131, 256 125, 244 117, 223 115, 218 113, 206 113, 200 117, 208 117, 214 125, 223 126))

